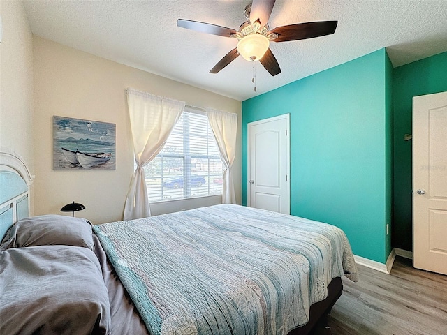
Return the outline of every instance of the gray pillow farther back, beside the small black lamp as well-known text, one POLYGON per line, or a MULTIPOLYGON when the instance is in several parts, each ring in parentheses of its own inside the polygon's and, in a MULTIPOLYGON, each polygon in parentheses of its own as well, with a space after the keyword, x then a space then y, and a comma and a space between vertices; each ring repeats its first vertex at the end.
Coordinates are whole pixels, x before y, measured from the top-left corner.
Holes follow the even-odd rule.
POLYGON ((82 246, 94 251, 91 223, 85 218, 54 214, 24 218, 6 232, 0 251, 50 245, 82 246))

